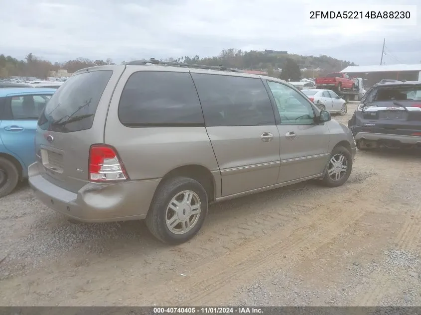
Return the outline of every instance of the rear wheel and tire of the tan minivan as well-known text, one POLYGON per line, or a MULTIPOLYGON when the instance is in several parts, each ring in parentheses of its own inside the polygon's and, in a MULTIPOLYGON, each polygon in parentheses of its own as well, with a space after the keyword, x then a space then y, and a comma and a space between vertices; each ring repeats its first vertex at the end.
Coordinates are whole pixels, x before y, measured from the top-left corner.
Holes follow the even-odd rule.
MULTIPOLYGON (((180 200, 175 201, 181 202, 180 200)), ((187 203, 185 205, 187 205, 187 203)), ((167 244, 181 244, 191 239, 200 230, 205 221, 208 206, 208 195, 199 182, 188 177, 170 178, 160 184, 156 190, 146 215, 146 226, 152 235, 160 241, 167 244), (185 197, 186 194, 183 193, 186 191, 190 192, 190 195, 192 196, 190 205, 192 203, 194 203, 193 206, 199 205, 199 212, 197 216, 195 216, 194 213, 188 215, 191 208, 183 208, 179 215, 185 215, 184 218, 187 218, 192 225, 190 229, 183 232, 182 230, 186 229, 186 226, 180 221, 180 216, 176 214, 175 210, 171 209, 169 206, 177 195, 179 195, 180 199, 185 197), (170 227, 167 226, 168 217, 174 217, 173 222, 178 222, 175 225, 173 224, 173 230, 170 230, 170 227)))

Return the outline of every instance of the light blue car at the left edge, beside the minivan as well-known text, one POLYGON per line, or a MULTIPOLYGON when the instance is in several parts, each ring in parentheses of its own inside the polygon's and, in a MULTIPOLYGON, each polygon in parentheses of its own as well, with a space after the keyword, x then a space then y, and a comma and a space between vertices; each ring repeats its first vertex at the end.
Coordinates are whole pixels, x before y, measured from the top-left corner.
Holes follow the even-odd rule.
POLYGON ((35 162, 35 130, 45 104, 57 91, 44 88, 0 89, 0 198, 28 176, 35 162))

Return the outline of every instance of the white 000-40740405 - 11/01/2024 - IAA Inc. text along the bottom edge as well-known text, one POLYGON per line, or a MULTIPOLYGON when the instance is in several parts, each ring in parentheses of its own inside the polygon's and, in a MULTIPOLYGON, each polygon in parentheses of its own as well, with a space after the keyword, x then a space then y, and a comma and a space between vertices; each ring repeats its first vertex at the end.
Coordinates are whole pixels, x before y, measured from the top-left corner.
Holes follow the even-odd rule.
POLYGON ((160 307, 160 308, 153 308, 154 314, 263 314, 263 310, 261 308, 256 307, 175 307, 175 308, 168 308, 168 307, 160 307))

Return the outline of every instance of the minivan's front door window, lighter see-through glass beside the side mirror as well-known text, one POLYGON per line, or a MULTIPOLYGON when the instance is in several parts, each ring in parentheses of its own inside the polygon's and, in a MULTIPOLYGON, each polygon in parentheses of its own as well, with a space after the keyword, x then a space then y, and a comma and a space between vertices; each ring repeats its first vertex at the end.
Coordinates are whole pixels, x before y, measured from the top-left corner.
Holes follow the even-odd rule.
POLYGON ((301 94, 281 83, 267 82, 274 95, 282 124, 314 123, 313 107, 301 94), (280 94, 282 97, 277 97, 280 94))

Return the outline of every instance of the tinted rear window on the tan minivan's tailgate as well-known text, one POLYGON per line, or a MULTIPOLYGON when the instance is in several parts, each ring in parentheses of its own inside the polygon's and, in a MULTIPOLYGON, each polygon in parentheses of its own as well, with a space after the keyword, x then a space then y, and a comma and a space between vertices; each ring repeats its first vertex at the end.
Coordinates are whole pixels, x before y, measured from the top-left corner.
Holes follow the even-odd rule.
POLYGON ((112 70, 99 70, 70 77, 41 112, 39 127, 56 132, 91 128, 98 103, 112 74, 112 70))

